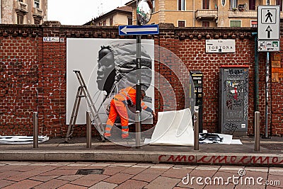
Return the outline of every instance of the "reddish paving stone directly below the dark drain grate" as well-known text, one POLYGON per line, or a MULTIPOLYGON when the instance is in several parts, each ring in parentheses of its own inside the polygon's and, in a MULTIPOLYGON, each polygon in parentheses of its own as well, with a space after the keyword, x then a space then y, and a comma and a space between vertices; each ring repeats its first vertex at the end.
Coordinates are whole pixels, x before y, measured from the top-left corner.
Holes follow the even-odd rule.
POLYGON ((92 185, 95 185, 96 183, 99 183, 100 181, 103 181, 104 179, 108 177, 109 176, 106 176, 106 175, 91 174, 91 175, 83 176, 79 179, 76 179, 76 181, 72 181, 70 184, 91 187, 92 185))

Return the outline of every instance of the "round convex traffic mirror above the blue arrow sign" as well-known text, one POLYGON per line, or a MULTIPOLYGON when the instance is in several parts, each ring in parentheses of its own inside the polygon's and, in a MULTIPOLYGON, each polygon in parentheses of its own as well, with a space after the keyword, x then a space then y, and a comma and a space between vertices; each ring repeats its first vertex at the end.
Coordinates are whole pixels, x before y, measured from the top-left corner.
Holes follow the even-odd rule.
POLYGON ((139 1, 137 5, 137 20, 141 25, 149 22, 151 18, 151 2, 146 0, 139 1))

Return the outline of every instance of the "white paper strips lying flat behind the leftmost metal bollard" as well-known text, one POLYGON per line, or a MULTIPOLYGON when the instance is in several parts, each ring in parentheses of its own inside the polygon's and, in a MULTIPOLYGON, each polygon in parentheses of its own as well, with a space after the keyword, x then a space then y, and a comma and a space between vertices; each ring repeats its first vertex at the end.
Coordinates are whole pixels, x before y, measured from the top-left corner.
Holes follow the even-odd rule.
MULTIPOLYGON (((49 140, 47 136, 38 136, 38 143, 49 140)), ((29 136, 0 136, 0 144, 33 144, 33 137, 29 136)))

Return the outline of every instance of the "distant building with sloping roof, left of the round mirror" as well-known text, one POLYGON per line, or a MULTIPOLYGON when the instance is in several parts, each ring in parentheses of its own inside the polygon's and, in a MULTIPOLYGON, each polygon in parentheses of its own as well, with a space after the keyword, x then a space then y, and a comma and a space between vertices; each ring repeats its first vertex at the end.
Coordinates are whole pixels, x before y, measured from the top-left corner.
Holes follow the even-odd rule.
POLYGON ((122 6, 114 10, 94 18, 92 21, 84 25, 100 25, 100 26, 117 26, 132 24, 132 10, 130 6, 122 6))

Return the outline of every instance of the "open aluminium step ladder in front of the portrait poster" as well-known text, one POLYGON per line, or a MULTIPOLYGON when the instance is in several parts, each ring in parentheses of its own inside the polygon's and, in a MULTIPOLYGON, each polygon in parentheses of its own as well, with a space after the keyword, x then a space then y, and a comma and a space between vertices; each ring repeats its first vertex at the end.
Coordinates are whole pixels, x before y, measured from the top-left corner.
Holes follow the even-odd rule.
POLYGON ((83 97, 86 98, 86 103, 88 105, 88 108, 91 110, 91 118, 93 119, 93 120, 91 120, 91 122, 93 123, 96 130, 98 130, 102 141, 105 142, 105 139, 103 137, 103 133, 105 132, 103 124, 102 124, 102 122, 99 118, 98 111, 96 110, 96 107, 93 103, 93 100, 91 99, 91 96, 88 92, 88 88, 86 87, 86 84, 83 81, 83 76, 81 76, 81 71, 74 70, 74 72, 76 74, 76 77, 79 80, 80 86, 79 86, 78 91, 76 93, 76 100, 75 100, 75 103, 74 103, 73 111, 71 113, 71 118, 70 118, 69 127, 68 127, 65 142, 68 142, 71 135, 74 133, 74 127, 76 125, 76 118, 77 118, 77 115, 78 115, 78 112, 79 112, 79 105, 81 103, 81 98, 83 98, 83 97))

